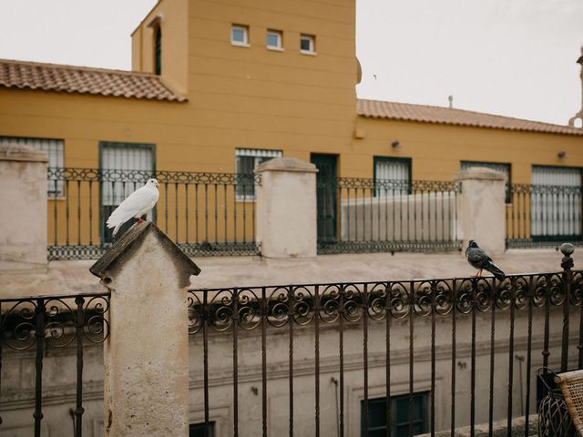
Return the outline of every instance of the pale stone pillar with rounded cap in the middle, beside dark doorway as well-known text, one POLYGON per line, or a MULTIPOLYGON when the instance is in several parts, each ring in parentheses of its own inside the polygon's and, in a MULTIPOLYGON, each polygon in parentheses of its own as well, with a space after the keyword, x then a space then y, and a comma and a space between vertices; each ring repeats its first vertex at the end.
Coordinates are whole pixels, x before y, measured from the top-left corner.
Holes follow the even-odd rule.
POLYGON ((255 169, 256 235, 267 258, 316 256, 316 167, 297 158, 273 158, 255 169))

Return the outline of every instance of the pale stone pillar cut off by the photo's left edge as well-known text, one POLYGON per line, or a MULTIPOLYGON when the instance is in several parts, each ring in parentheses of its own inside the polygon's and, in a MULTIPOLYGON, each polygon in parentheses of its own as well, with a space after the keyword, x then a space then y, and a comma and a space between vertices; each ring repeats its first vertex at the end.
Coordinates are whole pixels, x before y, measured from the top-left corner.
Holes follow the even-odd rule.
POLYGON ((0 272, 46 269, 46 152, 0 146, 0 272))

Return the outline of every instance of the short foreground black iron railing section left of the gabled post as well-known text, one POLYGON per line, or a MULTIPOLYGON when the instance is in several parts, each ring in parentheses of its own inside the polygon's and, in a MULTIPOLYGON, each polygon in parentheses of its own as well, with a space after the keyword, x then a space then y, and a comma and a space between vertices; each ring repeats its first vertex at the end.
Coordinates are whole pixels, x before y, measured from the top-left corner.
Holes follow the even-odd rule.
MULTIPOLYGON (((31 417, 35 437, 41 435, 43 420, 43 361, 49 351, 64 348, 76 349, 76 399, 71 416, 75 437, 82 437, 84 347, 107 339, 108 311, 108 293, 0 299, 0 371, 3 351, 35 351, 34 383, 30 384, 35 393, 31 417)), ((0 372, 0 401, 3 394, 0 372)), ((0 433, 2 426, 0 417, 0 433)))

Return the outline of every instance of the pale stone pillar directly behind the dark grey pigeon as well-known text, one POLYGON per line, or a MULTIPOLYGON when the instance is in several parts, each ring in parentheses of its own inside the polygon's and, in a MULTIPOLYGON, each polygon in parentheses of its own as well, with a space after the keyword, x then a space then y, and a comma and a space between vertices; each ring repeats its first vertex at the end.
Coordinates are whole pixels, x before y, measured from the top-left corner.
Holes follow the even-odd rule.
POLYGON ((457 197, 457 235, 463 248, 475 239, 490 255, 506 249, 506 178, 491 168, 468 168, 455 180, 461 182, 457 197))

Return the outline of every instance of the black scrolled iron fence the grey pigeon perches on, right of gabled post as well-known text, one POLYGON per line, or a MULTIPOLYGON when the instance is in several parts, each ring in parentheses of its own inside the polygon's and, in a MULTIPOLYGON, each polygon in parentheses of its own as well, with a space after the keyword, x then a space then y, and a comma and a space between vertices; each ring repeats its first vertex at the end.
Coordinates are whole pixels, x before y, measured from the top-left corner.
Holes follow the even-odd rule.
MULTIPOLYGON (((281 411, 277 412, 277 419, 273 419, 269 414, 276 412, 268 408, 268 400, 272 396, 281 396, 281 379, 287 380, 288 386, 289 435, 294 434, 294 427, 297 428, 298 424, 302 425, 308 420, 314 423, 312 432, 308 433, 315 436, 332 435, 333 431, 329 428, 322 430, 321 421, 322 407, 327 406, 322 405, 321 391, 324 384, 330 381, 331 374, 332 381, 335 381, 339 390, 337 435, 345 435, 346 412, 359 409, 359 405, 346 403, 351 399, 346 393, 347 371, 360 371, 361 374, 363 401, 360 433, 363 436, 412 436, 418 432, 431 432, 435 435, 436 404, 445 399, 448 399, 445 402, 449 402, 448 409, 440 408, 439 411, 444 415, 449 412, 452 437, 456 427, 468 423, 474 435, 478 412, 482 417, 487 412, 486 420, 489 422, 491 435, 493 422, 500 419, 495 417, 495 405, 498 416, 500 406, 506 405, 506 414, 502 414, 507 420, 508 437, 511 436, 511 421, 515 415, 526 416, 525 435, 528 435, 528 416, 534 412, 533 404, 536 403, 537 394, 531 391, 535 384, 531 369, 545 366, 555 367, 557 371, 567 371, 569 366, 577 365, 579 369, 583 367, 583 272, 571 270, 572 247, 561 249, 564 249, 565 255, 561 263, 563 271, 509 275, 502 281, 490 278, 415 279, 190 290, 189 333, 194 336, 193 340, 198 339, 202 349, 197 352, 201 361, 201 369, 197 374, 202 380, 199 396, 204 398, 205 435, 210 434, 212 427, 210 411, 217 403, 224 405, 227 401, 224 389, 220 391, 220 399, 213 398, 213 393, 216 392, 213 390, 216 390, 218 382, 213 379, 210 384, 210 371, 220 368, 221 381, 225 381, 226 372, 229 371, 224 363, 225 346, 229 347, 229 344, 232 360, 230 408, 234 436, 240 435, 243 424, 240 410, 250 402, 256 402, 251 411, 257 416, 253 417, 249 409, 245 410, 244 423, 256 423, 253 435, 267 436, 270 421, 281 422, 281 411), (576 319, 571 320, 572 318, 576 319), (326 368, 323 369, 322 348, 331 353, 331 330, 326 330, 325 341, 322 336, 323 331, 330 327, 334 328, 332 336, 337 339, 337 361, 333 368, 330 361, 326 361, 326 368), (261 389, 251 388, 255 396, 261 398, 250 398, 247 391, 239 391, 241 380, 248 384, 251 381, 249 372, 240 373, 240 344, 257 330, 261 332, 261 340, 253 337, 255 340, 247 344, 253 345, 251 348, 258 357, 257 361, 261 356, 261 364, 254 364, 256 367, 261 365, 261 381, 253 382, 253 385, 261 383, 261 389), (305 351, 306 344, 295 341, 299 341, 299 333, 305 330, 310 332, 307 338, 312 338, 312 355, 297 359, 298 350, 302 347, 305 351), (373 332, 376 332, 375 340, 371 337, 373 332), (350 342, 346 340, 349 334, 356 336, 350 342), (286 339, 287 346, 283 346, 286 339), (408 345, 397 349, 395 344, 398 345, 403 339, 406 339, 408 345), (518 350, 515 347, 517 340, 524 343, 521 346, 523 349, 518 350), (269 346, 272 347, 273 343, 278 345, 276 356, 268 353, 269 346), (220 361, 210 362, 212 345, 222 347, 219 352, 220 361), (345 351, 351 347, 352 351, 360 348, 361 364, 352 362, 351 368, 347 369, 345 351), (376 425, 381 422, 384 427, 377 426, 374 432, 373 427, 369 426, 372 420, 370 409, 376 405, 369 403, 370 373, 373 371, 369 368, 369 358, 373 348, 376 351, 375 369, 379 364, 384 368, 381 377, 381 381, 384 380, 384 391, 381 394, 384 399, 381 400, 384 402, 382 417, 374 418, 376 425), (426 348, 428 354, 419 348, 426 348), (466 354, 464 357, 461 356, 461 351, 466 354), (522 354, 519 358, 526 361, 524 380, 522 361, 519 364, 519 378, 515 371, 518 352, 522 354), (476 362, 478 356, 480 367, 476 362), (408 357, 405 361, 407 370, 394 376, 397 358, 404 357, 408 357), (465 360, 469 361, 469 378, 463 370, 466 366, 465 360), (274 373, 273 361, 287 361, 285 374, 281 371, 274 373), (313 363, 311 370, 304 369, 306 362, 313 363), (428 366, 431 367, 431 376, 425 405, 423 402, 416 402, 414 398, 417 384, 415 370, 421 367, 427 369, 428 366), (311 401, 306 401, 306 397, 297 401, 294 397, 298 378, 295 372, 298 368, 301 368, 303 378, 312 375, 311 401), (459 372, 465 373, 461 377, 462 381, 458 381, 459 372), (437 377, 442 381, 439 397, 436 396, 437 377), (407 382, 408 394, 397 401, 404 401, 406 407, 404 412, 399 413, 400 421, 403 422, 400 425, 402 428, 395 432, 391 425, 397 422, 397 418, 390 407, 391 402, 387 400, 393 399, 394 384, 403 384, 404 381, 407 382), (476 382, 479 382, 482 391, 477 391, 476 382), (451 384, 449 389, 448 383, 451 384), (271 384, 279 387, 276 394, 270 392, 271 384), (504 390, 500 389, 501 385, 505 387, 504 390), (517 391, 520 393, 519 399, 517 391), (253 401, 254 399, 257 401, 253 401), (517 403, 520 406, 519 412, 517 403), (460 404, 462 410, 469 405, 469 418, 460 420, 459 413, 456 414, 460 404), (419 421, 416 414, 425 408, 428 410, 424 413, 426 422, 417 427, 415 423, 419 421)), ((303 338, 306 339, 305 336, 303 338)), ((245 361, 250 365, 249 351, 245 361)), ((375 375, 378 384, 379 372, 376 371, 375 375)), ((303 391, 306 390, 305 384, 302 388, 303 391)), ((379 396, 378 392, 376 396, 379 396)), ((375 411, 378 413, 378 408, 375 411)))

